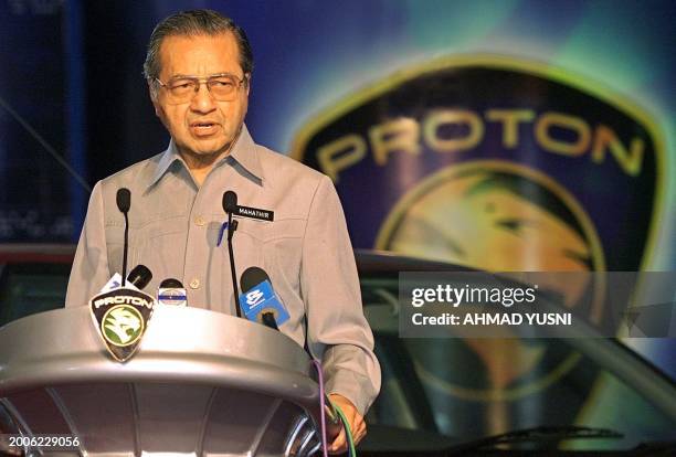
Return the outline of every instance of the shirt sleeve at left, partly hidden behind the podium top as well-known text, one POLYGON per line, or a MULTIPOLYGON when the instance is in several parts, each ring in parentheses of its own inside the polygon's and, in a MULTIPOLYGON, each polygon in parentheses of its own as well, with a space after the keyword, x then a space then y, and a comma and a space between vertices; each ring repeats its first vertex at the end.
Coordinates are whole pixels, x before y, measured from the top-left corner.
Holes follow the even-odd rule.
POLYGON ((65 306, 87 305, 109 277, 102 184, 97 182, 89 196, 87 215, 75 251, 65 306))

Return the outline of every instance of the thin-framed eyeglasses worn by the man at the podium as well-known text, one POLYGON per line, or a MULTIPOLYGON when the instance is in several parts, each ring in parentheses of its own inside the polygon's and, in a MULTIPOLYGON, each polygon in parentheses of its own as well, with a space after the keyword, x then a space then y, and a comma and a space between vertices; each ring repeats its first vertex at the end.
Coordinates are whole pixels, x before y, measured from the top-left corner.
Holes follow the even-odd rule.
POLYGON ((202 83, 207 84, 209 93, 216 102, 230 102, 235 98, 237 89, 246 81, 246 76, 239 78, 229 73, 208 77, 178 76, 162 83, 155 78, 160 86, 167 89, 167 100, 172 105, 189 103, 199 92, 202 83))

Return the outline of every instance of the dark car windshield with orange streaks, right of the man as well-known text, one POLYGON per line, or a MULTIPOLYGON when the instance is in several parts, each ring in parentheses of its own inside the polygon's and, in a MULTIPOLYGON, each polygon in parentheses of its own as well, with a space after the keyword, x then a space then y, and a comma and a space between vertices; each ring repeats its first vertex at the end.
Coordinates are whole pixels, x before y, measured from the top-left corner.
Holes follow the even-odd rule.
MULTIPOLYGON (((609 369, 610 359, 606 365, 603 357, 590 358, 572 340, 400 338, 398 284, 391 274, 362 278, 365 313, 383 375, 368 423, 371 429, 405 437, 399 449, 390 444, 391 450, 572 425, 608 428, 623 437, 554 439, 554 448, 630 449, 676 439, 673 416, 609 369), (420 439, 413 431, 421 433, 420 439)), ((613 346, 616 354, 627 350, 613 346)), ((649 365, 642 369, 646 380, 664 381, 649 365)), ((374 442, 369 445, 378 448, 374 442)))

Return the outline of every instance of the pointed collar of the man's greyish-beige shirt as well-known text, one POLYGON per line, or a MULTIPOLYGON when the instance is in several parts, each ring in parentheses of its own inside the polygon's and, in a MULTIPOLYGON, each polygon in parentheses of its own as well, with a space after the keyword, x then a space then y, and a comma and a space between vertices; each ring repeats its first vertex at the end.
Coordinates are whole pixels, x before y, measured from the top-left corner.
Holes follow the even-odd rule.
MULTIPOLYGON (((261 167, 258 151, 245 125, 242 126, 240 136, 235 140, 235 144, 230 153, 219 160, 216 163, 214 163, 214 168, 221 166, 228 160, 236 161, 254 178, 260 181, 263 181, 263 168, 261 167)), ((159 160, 157 161, 157 168, 155 169, 155 172, 151 174, 150 180, 148 181, 148 188, 155 185, 176 161, 182 162, 183 167, 187 168, 186 162, 183 161, 183 159, 181 159, 181 156, 178 152, 178 148, 176 147, 176 142, 173 142, 172 138, 169 141, 169 147, 167 148, 167 150, 165 150, 165 152, 162 152, 162 155, 159 157, 159 160)))

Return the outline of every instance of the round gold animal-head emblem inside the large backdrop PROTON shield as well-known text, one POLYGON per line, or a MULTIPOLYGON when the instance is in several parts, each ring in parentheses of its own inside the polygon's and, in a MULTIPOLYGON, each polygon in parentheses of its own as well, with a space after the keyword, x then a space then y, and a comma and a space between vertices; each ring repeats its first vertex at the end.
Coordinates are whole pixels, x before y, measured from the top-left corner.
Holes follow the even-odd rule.
MULTIPOLYGON (((489 272, 605 270, 601 241, 582 205, 547 176, 497 160, 451 166, 422 180, 394 205, 376 247, 489 272)), ((603 279, 538 277, 566 307, 585 307, 598 326, 604 323, 603 279)), ((489 341, 480 346, 493 352, 489 341)))

